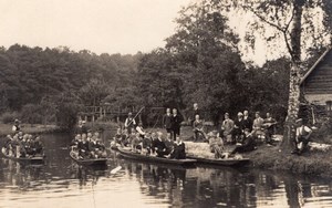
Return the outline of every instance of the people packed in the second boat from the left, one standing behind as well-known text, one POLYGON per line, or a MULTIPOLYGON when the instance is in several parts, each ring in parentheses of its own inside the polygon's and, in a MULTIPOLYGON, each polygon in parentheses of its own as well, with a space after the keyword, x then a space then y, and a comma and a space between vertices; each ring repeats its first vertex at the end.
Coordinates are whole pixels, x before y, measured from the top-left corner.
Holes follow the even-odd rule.
POLYGON ((100 132, 86 128, 85 121, 79 122, 75 138, 71 143, 74 156, 77 159, 106 158, 106 148, 100 132))

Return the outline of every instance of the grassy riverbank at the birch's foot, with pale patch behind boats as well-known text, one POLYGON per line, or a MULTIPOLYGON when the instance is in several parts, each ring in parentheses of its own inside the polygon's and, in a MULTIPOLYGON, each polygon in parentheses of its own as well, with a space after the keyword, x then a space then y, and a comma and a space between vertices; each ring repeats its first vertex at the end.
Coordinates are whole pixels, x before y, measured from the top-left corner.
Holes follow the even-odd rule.
MULTIPOLYGON (((186 142, 186 149, 188 154, 214 158, 214 155, 209 153, 207 143, 186 142)), ((234 146, 226 146, 226 152, 231 149, 234 149, 234 146)), ((260 145, 256 150, 241 155, 242 157, 250 158, 251 166, 257 168, 328 177, 331 177, 332 175, 331 149, 309 150, 298 156, 288 152, 282 152, 278 145, 260 145)))

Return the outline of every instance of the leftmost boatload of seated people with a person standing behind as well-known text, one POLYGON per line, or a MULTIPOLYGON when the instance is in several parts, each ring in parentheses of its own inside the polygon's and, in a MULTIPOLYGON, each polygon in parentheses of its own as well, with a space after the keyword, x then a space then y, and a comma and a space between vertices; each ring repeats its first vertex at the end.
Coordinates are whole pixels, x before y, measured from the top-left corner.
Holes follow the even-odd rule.
POLYGON ((17 158, 43 156, 43 144, 40 141, 40 136, 24 134, 19 119, 14 119, 12 132, 12 135, 7 135, 4 148, 2 149, 3 154, 17 158))

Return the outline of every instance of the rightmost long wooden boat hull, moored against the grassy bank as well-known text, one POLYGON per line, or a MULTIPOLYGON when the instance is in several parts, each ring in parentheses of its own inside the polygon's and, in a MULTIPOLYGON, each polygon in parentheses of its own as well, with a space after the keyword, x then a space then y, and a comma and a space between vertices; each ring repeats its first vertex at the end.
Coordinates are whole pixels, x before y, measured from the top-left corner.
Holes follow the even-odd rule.
POLYGON ((214 158, 204 158, 197 156, 187 156, 187 158, 196 159, 198 164, 201 165, 216 165, 216 166, 231 166, 231 167, 242 167, 249 164, 249 158, 227 158, 227 159, 214 159, 214 158))

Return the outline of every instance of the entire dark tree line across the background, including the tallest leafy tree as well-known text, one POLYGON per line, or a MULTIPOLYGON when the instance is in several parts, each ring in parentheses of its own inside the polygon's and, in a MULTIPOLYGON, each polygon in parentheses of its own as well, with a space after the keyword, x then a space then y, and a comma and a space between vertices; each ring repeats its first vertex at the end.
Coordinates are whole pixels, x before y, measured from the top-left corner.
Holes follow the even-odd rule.
MULTIPOLYGON (((19 111, 30 123, 58 121, 70 127, 84 105, 110 103, 114 107, 176 107, 187 117, 193 103, 198 103, 205 118, 214 122, 218 122, 225 112, 236 115, 243 110, 271 112, 283 121, 289 108, 289 89, 293 86, 289 84, 290 69, 299 54, 290 53, 267 61, 262 66, 245 63, 238 48, 240 38, 229 28, 227 12, 231 8, 234 11, 241 8, 242 12, 256 11, 259 19, 255 25, 261 22, 269 24, 269 15, 277 18, 277 23, 281 24, 287 20, 278 19, 278 13, 273 12, 297 12, 298 6, 287 1, 276 4, 273 1, 253 0, 248 1, 251 4, 246 4, 247 1, 241 4, 232 0, 225 2, 204 0, 184 8, 176 19, 177 29, 166 39, 165 48, 145 54, 96 55, 86 50, 43 50, 18 44, 2 48, 2 112, 19 111)), ((329 7, 325 9, 329 13, 329 7)), ((324 19, 326 30, 330 29, 329 18, 324 19)), ((288 27, 291 21, 287 22, 288 27)), ((309 21, 308 27, 313 24, 309 21)), ((247 41, 255 41, 255 30, 262 28, 249 31, 247 41)), ((288 29, 279 28, 287 35, 295 35, 295 32, 289 34, 288 29)), ((286 40, 294 41, 289 49, 297 52, 299 45, 295 42, 299 40, 295 38, 286 37, 286 40)), ((307 49, 308 59, 301 61, 302 66, 310 66, 324 49, 318 42, 313 43, 307 49)), ((304 72, 304 67, 299 70, 299 62, 297 74, 293 74, 297 77, 304 72)))

